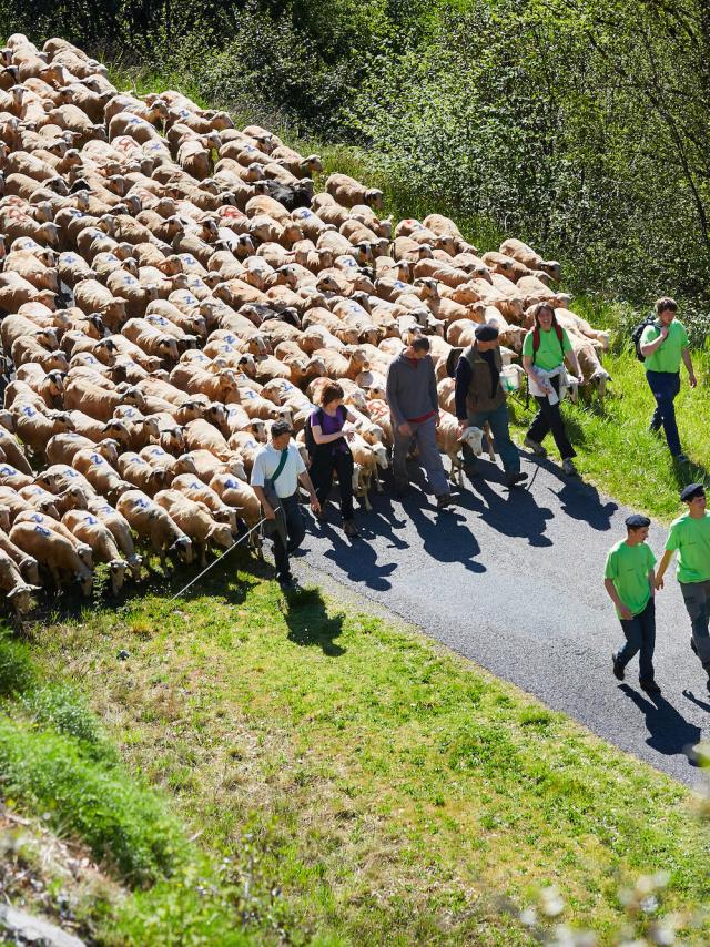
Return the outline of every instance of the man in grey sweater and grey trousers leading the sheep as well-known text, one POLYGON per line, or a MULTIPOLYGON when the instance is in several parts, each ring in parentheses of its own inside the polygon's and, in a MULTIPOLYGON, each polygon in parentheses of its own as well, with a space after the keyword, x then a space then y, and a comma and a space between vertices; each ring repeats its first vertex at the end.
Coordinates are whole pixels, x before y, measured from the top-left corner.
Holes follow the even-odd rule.
POLYGON ((402 355, 390 363, 387 371, 387 404, 395 441, 392 466, 397 496, 405 496, 409 489, 407 454, 415 440, 438 508, 448 506, 452 495, 436 446, 439 404, 426 336, 413 338, 402 355))

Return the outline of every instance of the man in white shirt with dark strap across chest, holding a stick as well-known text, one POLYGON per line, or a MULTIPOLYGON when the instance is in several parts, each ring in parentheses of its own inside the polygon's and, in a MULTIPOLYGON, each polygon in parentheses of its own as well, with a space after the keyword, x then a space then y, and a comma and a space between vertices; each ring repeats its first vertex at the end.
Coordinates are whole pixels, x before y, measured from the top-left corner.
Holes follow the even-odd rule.
POLYGON ((264 445, 256 454, 251 480, 267 521, 265 532, 274 542, 276 577, 284 590, 295 587, 288 556, 301 546, 306 532, 298 507, 298 481, 308 492, 313 512, 316 516, 321 512, 306 465, 297 446, 291 441, 292 435, 288 421, 274 421, 271 444, 264 445))

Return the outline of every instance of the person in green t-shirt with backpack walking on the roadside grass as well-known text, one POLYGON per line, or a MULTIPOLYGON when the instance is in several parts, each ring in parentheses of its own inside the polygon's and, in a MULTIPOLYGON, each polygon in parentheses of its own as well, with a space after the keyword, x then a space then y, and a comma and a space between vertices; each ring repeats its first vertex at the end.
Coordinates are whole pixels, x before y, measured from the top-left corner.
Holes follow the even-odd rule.
POLYGON ((690 387, 694 388, 698 380, 688 348, 688 333, 683 324, 676 318, 677 312, 678 304, 669 296, 656 301, 656 322, 643 329, 640 349, 646 359, 646 380, 656 398, 650 430, 659 431, 662 426, 668 449, 682 464, 688 458, 680 448, 673 405, 676 395, 680 391, 681 360, 688 369, 690 387))

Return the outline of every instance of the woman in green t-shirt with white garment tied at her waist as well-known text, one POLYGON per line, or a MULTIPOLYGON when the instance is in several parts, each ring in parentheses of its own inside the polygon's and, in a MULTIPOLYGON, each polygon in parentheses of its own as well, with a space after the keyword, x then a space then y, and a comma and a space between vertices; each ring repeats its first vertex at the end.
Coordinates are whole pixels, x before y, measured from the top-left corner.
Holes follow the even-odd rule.
POLYGON ((564 394, 566 387, 566 360, 581 385, 579 363, 567 332, 558 325, 555 309, 549 303, 539 303, 535 308, 535 326, 523 342, 523 367, 529 379, 530 393, 538 404, 538 411, 523 444, 538 457, 546 457, 542 441, 551 431, 562 458, 564 472, 575 477, 577 469, 572 458, 576 451, 567 436, 559 409, 560 391, 564 394))

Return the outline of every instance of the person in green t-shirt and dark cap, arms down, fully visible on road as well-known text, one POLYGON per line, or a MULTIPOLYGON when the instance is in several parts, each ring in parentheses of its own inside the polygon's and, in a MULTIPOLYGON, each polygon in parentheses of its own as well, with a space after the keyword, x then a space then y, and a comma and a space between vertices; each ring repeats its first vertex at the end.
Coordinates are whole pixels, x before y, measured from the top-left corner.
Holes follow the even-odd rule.
POLYGON ((626 539, 611 547, 604 572, 604 587, 616 605, 626 638, 626 644, 611 655, 613 676, 622 681, 623 669, 640 652, 639 685, 649 694, 658 694, 660 688, 653 676, 656 557, 646 542, 651 521, 632 513, 625 522, 626 539))

